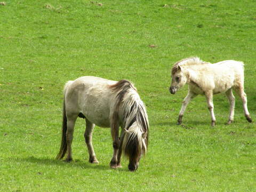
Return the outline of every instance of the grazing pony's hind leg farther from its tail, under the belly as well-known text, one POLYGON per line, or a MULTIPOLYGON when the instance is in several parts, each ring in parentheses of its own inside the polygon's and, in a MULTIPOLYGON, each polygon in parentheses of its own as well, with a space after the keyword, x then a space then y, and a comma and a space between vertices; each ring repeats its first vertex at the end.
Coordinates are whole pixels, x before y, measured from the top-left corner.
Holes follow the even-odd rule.
POLYGON ((99 163, 96 155, 94 153, 94 149, 92 146, 92 132, 94 129, 94 124, 91 123, 89 120, 85 119, 86 121, 86 128, 85 128, 85 132, 84 132, 84 139, 85 139, 85 143, 87 145, 88 148, 88 152, 89 152, 89 162, 90 163, 99 163))

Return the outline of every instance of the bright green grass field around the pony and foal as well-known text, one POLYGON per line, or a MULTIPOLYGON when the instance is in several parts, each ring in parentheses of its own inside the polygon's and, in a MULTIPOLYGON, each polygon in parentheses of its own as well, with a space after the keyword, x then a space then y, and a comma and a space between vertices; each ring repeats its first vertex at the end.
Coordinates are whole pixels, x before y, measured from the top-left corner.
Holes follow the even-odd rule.
POLYGON ((256 191, 256 127, 236 96, 204 97, 175 125, 187 87, 169 93, 173 63, 197 55, 245 63, 256 121, 256 1, 23 1, 0 3, 0 191, 256 191), (113 170, 110 129, 95 127, 100 164, 88 162, 83 119, 72 163, 55 160, 65 82, 93 75, 129 79, 147 106, 148 154, 136 172, 113 170))

